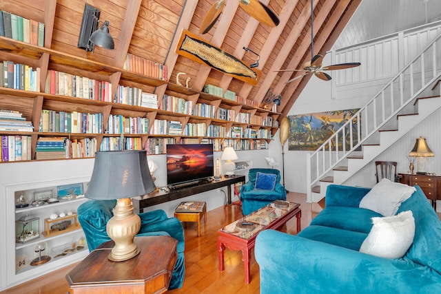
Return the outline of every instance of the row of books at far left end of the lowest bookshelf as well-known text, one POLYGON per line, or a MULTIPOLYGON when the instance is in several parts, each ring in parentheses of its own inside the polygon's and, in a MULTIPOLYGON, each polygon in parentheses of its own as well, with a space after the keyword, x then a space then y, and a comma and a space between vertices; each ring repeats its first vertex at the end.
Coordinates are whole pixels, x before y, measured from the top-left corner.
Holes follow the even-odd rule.
POLYGON ((2 162, 31 160, 31 136, 2 135, 0 158, 2 162))

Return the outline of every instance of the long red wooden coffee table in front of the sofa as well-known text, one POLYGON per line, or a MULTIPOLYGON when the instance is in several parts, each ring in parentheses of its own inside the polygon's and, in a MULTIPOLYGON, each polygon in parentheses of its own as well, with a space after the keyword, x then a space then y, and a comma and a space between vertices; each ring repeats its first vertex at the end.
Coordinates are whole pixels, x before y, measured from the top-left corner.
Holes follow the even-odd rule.
POLYGON ((300 204, 286 203, 289 205, 282 208, 276 208, 274 202, 268 204, 218 231, 219 271, 225 269, 223 253, 226 247, 230 250, 241 250, 245 268, 245 284, 249 284, 249 261, 258 233, 266 229, 280 229, 293 216, 297 218, 297 232, 300 231, 300 216, 302 214, 300 204))

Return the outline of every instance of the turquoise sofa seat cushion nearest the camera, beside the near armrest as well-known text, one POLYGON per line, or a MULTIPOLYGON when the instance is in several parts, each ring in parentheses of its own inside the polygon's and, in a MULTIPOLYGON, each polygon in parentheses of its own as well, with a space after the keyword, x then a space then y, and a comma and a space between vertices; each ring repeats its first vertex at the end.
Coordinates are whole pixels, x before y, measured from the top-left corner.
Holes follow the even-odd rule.
POLYGON ((334 244, 347 249, 358 251, 362 242, 366 239, 367 233, 347 231, 332 227, 309 225, 297 234, 309 240, 334 244))

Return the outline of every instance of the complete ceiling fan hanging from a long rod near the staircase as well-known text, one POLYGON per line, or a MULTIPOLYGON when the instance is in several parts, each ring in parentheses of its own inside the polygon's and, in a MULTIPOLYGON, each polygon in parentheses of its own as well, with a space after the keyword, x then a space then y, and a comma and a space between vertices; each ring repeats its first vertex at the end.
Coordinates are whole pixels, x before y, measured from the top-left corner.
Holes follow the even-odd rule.
POLYGON ((311 0, 311 61, 303 63, 303 67, 298 70, 276 70, 276 72, 305 72, 304 74, 300 74, 300 76, 296 76, 295 78, 291 78, 287 83, 291 83, 292 81, 297 80, 298 78, 302 78, 307 74, 314 74, 318 78, 323 81, 330 81, 331 76, 324 70, 345 70, 351 67, 357 67, 361 65, 359 62, 350 62, 350 63, 339 63, 334 65, 326 65, 322 66, 323 56, 320 54, 314 55, 314 13, 313 13, 313 3, 311 0))

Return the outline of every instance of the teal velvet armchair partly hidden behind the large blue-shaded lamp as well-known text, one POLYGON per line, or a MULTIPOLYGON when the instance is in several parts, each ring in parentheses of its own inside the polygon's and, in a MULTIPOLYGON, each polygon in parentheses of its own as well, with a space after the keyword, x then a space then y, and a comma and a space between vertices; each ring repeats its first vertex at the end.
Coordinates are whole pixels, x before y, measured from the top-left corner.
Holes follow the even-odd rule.
MULTIPOLYGON (((110 241, 105 226, 110 218, 113 217, 113 208, 116 200, 90 200, 81 204, 78 209, 78 220, 83 228, 89 251, 93 251, 104 242, 110 241)), ((185 275, 184 262, 184 230, 181 222, 177 218, 168 218, 165 211, 158 209, 139 213, 141 218, 141 229, 137 235, 168 235, 178 240, 176 251, 178 258, 169 289, 181 288, 185 275)))

